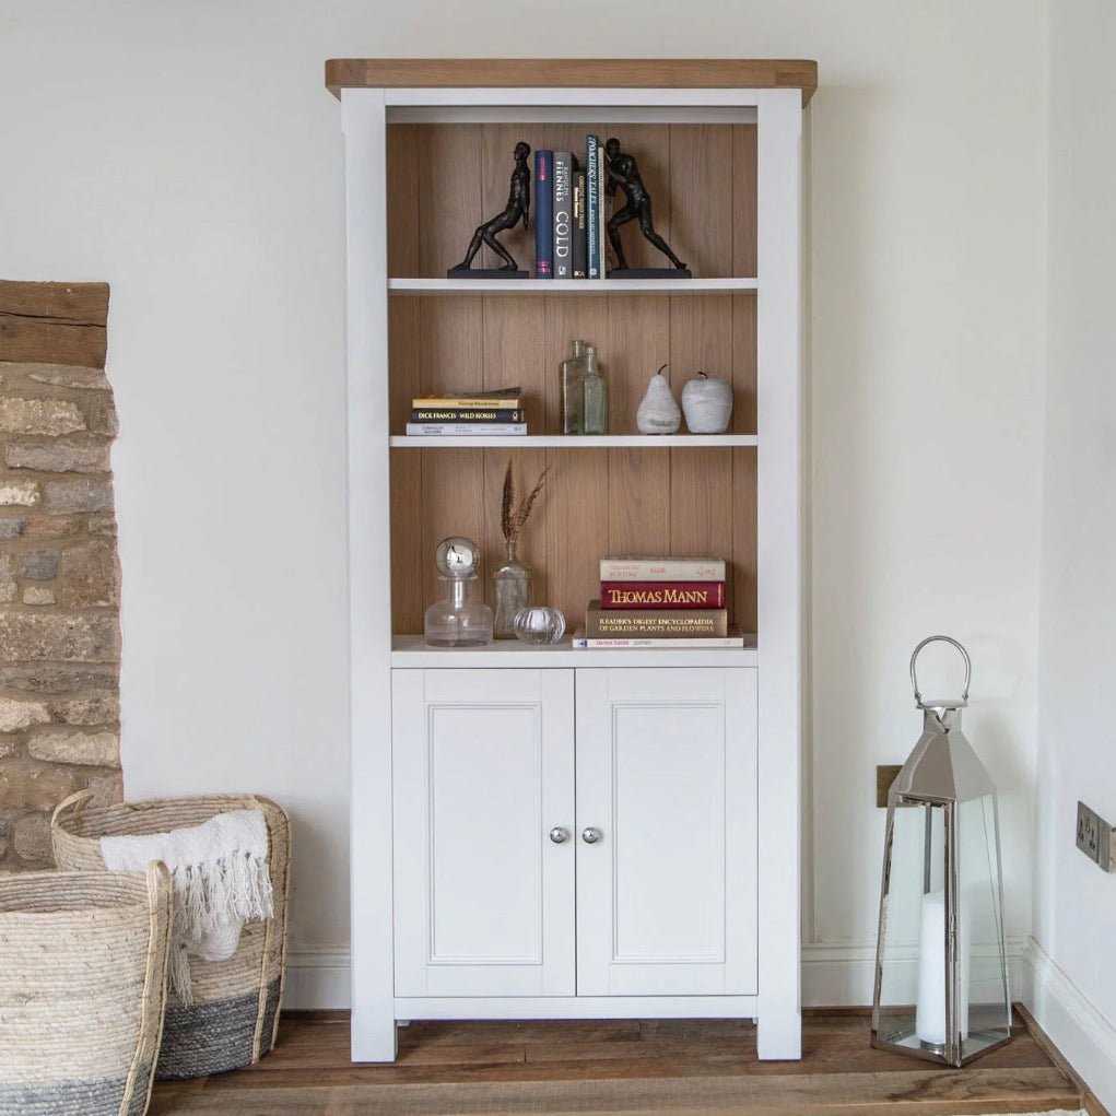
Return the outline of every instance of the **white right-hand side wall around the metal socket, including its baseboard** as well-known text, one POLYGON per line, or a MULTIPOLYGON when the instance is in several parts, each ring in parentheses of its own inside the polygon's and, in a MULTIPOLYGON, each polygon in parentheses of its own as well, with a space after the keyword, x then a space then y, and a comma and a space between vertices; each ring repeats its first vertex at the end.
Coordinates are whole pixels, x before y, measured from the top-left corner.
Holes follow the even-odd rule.
POLYGON ((1078 799, 1116 821, 1114 57, 1110 0, 1054 0, 1036 1003, 1040 1021, 1110 1108, 1116 876, 1076 849, 1074 827, 1078 799))

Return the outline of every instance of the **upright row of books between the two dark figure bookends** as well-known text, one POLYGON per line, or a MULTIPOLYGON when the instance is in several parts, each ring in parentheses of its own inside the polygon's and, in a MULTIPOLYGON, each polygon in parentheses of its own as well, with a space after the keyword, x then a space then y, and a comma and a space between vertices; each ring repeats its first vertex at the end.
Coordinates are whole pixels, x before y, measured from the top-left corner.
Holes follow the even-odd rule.
POLYGON ((535 153, 535 278, 605 278, 605 148, 535 153))

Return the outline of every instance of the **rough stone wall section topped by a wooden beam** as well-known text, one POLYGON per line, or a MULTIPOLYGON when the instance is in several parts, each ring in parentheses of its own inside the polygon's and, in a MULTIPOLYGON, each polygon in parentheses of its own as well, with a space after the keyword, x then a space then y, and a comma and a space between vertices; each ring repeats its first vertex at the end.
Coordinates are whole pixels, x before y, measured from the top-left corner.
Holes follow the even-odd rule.
POLYGON ((108 287, 0 282, 0 874, 54 806, 121 798, 108 287))

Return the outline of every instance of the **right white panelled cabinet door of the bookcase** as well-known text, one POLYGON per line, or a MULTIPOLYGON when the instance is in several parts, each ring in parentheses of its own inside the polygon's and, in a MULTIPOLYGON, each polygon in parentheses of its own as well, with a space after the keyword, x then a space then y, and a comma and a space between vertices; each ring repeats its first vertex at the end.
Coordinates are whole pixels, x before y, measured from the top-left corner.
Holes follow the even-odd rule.
POLYGON ((579 995, 756 992, 756 737, 754 670, 578 670, 579 995))

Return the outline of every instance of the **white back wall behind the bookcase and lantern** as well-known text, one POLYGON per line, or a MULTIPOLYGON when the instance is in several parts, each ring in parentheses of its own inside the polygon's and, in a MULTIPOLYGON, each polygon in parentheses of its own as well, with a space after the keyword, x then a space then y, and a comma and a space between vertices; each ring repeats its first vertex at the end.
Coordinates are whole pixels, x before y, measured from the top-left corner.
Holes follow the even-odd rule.
POLYGON ((874 766, 914 743, 906 658, 933 631, 975 657, 970 734, 1003 790, 1009 931, 1024 934, 1043 0, 561 11, 4 6, 0 271, 113 285, 128 793, 250 787, 287 804, 292 936, 346 940, 341 145, 323 59, 817 58, 808 936, 829 944, 807 991, 867 992, 866 966, 849 984, 843 965, 875 934, 874 766))

